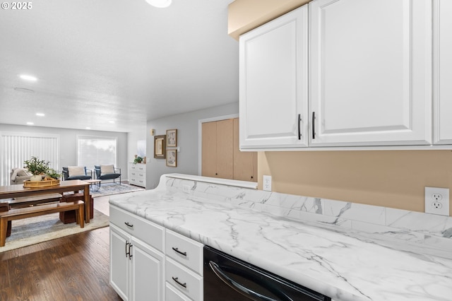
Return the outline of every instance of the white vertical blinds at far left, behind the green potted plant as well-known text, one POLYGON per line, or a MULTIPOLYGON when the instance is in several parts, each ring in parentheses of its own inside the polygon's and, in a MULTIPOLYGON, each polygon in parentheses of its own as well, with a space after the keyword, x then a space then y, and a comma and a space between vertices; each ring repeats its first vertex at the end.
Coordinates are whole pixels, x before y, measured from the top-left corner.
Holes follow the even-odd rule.
POLYGON ((49 161, 59 170, 59 135, 30 133, 1 133, 1 185, 10 184, 13 168, 23 167, 32 156, 49 161))

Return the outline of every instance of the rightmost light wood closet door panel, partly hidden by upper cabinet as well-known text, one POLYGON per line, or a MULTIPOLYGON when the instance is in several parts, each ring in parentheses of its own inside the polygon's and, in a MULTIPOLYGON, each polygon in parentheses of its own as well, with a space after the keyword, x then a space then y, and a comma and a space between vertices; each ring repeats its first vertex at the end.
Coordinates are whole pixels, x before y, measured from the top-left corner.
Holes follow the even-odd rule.
POLYGON ((238 118, 234 118, 234 179, 257 182, 257 152, 239 150, 238 118))

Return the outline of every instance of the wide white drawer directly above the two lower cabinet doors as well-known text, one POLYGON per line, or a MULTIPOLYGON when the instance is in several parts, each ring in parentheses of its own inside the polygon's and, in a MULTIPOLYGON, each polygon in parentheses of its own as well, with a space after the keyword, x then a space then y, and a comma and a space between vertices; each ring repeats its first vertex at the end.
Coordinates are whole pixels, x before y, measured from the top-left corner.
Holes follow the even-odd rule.
POLYGON ((163 252, 165 228, 115 206, 110 206, 110 223, 163 252))

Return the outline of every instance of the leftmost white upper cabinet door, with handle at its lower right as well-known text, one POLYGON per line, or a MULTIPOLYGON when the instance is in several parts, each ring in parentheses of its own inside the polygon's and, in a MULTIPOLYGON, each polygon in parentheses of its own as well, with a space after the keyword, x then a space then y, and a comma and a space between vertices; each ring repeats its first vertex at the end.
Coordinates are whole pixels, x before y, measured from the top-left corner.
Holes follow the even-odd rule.
POLYGON ((239 39, 240 148, 307 146, 307 6, 239 39))

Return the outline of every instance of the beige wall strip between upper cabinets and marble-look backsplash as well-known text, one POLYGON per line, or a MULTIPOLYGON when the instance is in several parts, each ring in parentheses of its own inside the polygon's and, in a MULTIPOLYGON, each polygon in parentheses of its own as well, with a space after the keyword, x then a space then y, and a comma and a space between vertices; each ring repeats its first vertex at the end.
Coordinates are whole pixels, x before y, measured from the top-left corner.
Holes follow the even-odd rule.
POLYGON ((425 186, 452 187, 452 151, 260 152, 259 189, 263 175, 286 194, 424 212, 425 186))

